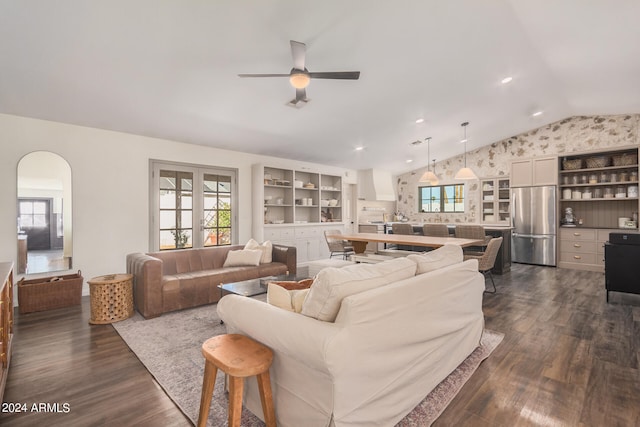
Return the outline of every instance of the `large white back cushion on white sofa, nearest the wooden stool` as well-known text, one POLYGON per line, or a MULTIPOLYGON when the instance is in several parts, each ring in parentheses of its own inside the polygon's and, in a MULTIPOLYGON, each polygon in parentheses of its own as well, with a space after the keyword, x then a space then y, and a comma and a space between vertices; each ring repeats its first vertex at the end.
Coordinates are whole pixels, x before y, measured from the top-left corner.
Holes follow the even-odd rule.
POLYGON ((316 276, 302 304, 302 314, 333 322, 342 299, 392 282, 415 276, 417 265, 407 258, 396 258, 378 264, 356 264, 328 267, 316 276))

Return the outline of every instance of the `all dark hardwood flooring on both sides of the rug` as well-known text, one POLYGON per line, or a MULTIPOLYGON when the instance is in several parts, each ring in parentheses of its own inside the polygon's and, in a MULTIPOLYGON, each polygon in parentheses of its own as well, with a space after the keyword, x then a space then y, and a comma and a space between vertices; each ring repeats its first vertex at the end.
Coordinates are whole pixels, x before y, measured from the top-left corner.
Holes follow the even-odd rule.
MULTIPOLYGON (((516 264, 495 280, 486 327, 505 338, 434 425, 640 425, 640 296, 607 304, 603 274, 549 267, 516 264)), ((0 413, 0 425, 190 425, 112 326, 88 324, 89 310, 85 297, 16 314, 5 403, 28 412, 0 413)))

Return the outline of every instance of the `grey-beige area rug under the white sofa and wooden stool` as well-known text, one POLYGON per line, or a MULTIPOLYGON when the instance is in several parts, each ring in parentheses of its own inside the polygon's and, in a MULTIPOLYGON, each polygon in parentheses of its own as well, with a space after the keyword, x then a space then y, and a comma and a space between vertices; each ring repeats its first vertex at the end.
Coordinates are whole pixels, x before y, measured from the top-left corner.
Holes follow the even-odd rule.
MULTIPOLYGON (((133 317, 114 323, 113 327, 167 395, 196 424, 204 373, 202 343, 214 335, 226 333, 225 326, 220 324, 216 306, 166 313, 149 320, 136 312, 133 317)), ((431 425, 503 337, 501 333, 485 330, 480 346, 398 426, 431 425)), ((218 375, 209 412, 210 426, 226 425, 227 399, 223 387, 223 376, 218 375)), ((243 427, 264 426, 262 421, 244 408, 241 424, 243 427)))

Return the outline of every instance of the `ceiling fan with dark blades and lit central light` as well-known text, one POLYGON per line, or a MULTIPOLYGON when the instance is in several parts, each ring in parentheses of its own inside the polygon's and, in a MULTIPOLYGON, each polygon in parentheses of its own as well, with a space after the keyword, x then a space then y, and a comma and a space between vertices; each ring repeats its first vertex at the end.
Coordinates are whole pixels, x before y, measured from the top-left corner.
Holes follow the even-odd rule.
POLYGON ((358 80, 360 71, 325 71, 310 72, 304 66, 307 46, 304 43, 291 40, 291 56, 293 57, 293 68, 289 74, 238 74, 239 77, 289 77, 291 86, 296 89, 296 97, 289 104, 293 106, 304 105, 309 102, 306 87, 311 79, 340 79, 358 80))

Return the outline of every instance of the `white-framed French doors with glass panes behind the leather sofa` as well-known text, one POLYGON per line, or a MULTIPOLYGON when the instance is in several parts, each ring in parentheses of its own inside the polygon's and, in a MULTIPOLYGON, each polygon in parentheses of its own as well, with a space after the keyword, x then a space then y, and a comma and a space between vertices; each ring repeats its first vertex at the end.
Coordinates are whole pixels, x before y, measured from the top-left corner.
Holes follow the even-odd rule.
POLYGON ((173 250, 237 242, 237 171, 151 161, 150 247, 173 250))

